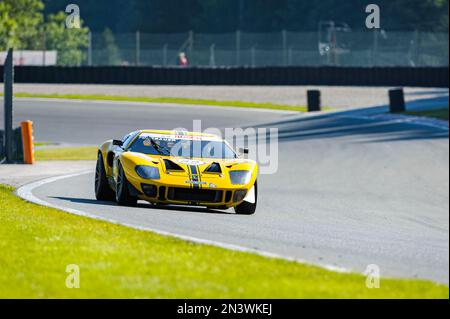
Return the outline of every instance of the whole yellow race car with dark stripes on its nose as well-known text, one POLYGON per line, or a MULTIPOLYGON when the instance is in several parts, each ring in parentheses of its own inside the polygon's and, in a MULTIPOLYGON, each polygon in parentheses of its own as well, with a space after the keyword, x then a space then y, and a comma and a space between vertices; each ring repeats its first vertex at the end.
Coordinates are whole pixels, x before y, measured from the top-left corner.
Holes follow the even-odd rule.
POLYGON ((145 200, 160 205, 234 207, 237 214, 251 215, 257 203, 257 174, 255 161, 239 158, 216 135, 139 130, 99 147, 95 196, 119 205, 145 200))

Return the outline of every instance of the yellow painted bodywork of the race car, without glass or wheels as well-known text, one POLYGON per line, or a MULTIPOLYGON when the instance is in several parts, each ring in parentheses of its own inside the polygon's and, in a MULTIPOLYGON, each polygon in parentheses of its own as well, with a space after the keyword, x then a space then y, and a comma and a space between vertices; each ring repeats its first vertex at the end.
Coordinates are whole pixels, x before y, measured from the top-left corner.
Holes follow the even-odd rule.
MULTIPOLYGON (((160 130, 144 130, 140 133, 151 133, 151 134, 167 134, 176 135, 175 131, 160 131, 160 130)), ((139 133, 139 134, 140 134, 139 133)), ((139 135, 138 134, 138 135, 139 135)), ((184 132, 183 134, 188 134, 190 136, 199 136, 205 138, 216 137, 211 134, 204 133, 194 133, 194 132, 184 132)), ((137 135, 137 136, 138 136, 137 135)), ((137 138, 135 137, 135 139, 137 138)), ((131 142, 132 143, 132 142, 131 142)), ((130 143, 130 144, 131 144, 130 143)), ((225 142, 226 143, 226 142, 225 142)), ((100 146, 99 152, 102 153, 104 160, 104 167, 106 175, 109 179, 116 179, 118 170, 117 165, 114 165, 110 159, 112 156, 112 141, 106 141, 100 146)), ((126 151, 126 149, 121 152, 118 156, 117 161, 120 162, 125 176, 128 182, 137 191, 137 197, 142 200, 146 200, 151 203, 159 204, 179 204, 179 205, 198 205, 207 207, 233 207, 240 204, 243 198, 239 201, 234 201, 234 195, 237 190, 244 190, 248 193, 255 184, 258 165, 255 161, 244 158, 233 158, 233 159, 218 159, 218 158, 184 158, 175 156, 164 156, 164 155, 146 155, 143 153, 136 153, 126 151), (170 170, 166 168, 164 159, 169 159, 172 162, 180 166, 183 171, 180 170, 170 170), (189 165, 184 162, 197 162, 196 165, 189 165), (221 168, 221 172, 205 172, 211 163, 218 163, 221 168), (159 179, 144 179, 140 177, 136 172, 136 166, 154 166, 159 170, 159 179), (196 167, 196 171, 193 171, 193 167, 196 167), (229 172, 234 170, 244 170, 251 172, 251 178, 245 185, 233 185, 231 183, 229 172), (192 185, 193 174, 198 175, 199 183, 197 185, 192 185), (157 188, 157 193, 155 196, 149 197, 145 194, 142 187, 143 184, 155 185, 157 188), (201 190, 213 190, 222 191, 220 195, 220 200, 211 202, 202 201, 190 201, 190 200, 175 200, 171 198, 170 192, 174 188, 192 189, 197 188, 201 190)), ((242 192, 241 192, 242 193, 242 192)))

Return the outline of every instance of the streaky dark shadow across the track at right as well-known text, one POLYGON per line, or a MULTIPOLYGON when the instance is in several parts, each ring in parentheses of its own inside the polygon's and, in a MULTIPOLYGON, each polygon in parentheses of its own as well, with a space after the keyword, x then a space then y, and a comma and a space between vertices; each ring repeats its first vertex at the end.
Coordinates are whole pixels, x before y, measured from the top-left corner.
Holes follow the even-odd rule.
MULTIPOLYGON (((408 110, 421 109, 426 105, 443 104, 448 107, 448 95, 409 102, 408 110)), ((286 120, 265 123, 258 127, 277 127, 280 142, 348 136, 356 137, 354 141, 356 143, 448 139, 448 126, 445 129, 437 125, 410 123, 408 120, 412 117, 391 117, 387 111, 388 107, 384 105, 338 113, 323 113, 317 116, 299 115, 286 120)), ((433 120, 427 119, 427 121, 433 120)))

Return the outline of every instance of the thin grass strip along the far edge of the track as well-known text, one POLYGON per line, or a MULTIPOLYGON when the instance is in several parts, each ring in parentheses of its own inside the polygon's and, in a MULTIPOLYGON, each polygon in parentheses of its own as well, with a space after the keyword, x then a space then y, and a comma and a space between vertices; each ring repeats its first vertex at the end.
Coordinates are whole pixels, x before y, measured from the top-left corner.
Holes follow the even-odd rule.
MULTIPOLYGON (((195 104, 209 106, 231 106, 247 107, 257 109, 274 109, 285 111, 306 112, 305 106, 273 104, 273 103, 255 103, 245 101, 217 101, 207 99, 189 99, 176 97, 139 97, 139 96, 118 96, 102 94, 36 94, 36 93, 15 93, 15 97, 37 97, 37 98, 58 98, 58 99, 77 99, 77 100, 107 100, 107 101, 130 101, 130 102, 154 102, 154 103, 176 103, 176 104, 195 104)), ((327 108, 324 108, 327 109, 327 108)))

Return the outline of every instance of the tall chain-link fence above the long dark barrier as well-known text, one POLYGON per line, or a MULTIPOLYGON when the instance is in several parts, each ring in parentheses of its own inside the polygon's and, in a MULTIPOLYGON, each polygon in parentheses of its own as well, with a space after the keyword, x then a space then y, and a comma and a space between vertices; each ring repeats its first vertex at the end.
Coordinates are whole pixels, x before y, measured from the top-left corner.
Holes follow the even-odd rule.
POLYGON ((91 33, 84 65, 429 67, 449 65, 448 33, 350 31, 91 33))

